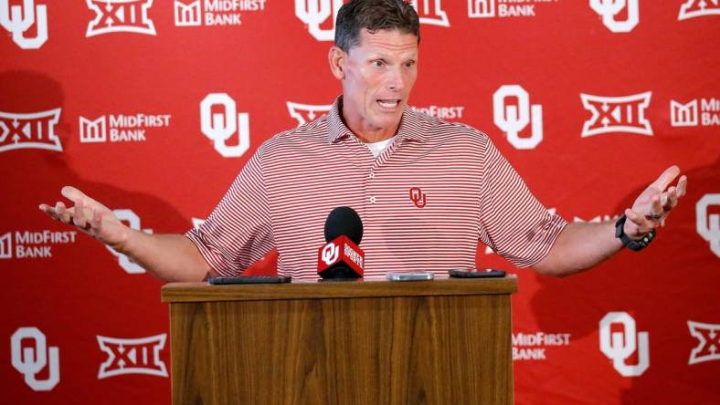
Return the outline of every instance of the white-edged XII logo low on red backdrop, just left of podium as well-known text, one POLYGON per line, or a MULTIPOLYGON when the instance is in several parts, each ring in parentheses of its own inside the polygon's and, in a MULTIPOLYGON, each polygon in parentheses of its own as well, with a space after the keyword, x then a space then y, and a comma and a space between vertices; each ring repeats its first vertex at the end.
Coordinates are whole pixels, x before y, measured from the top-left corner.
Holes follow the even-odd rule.
POLYGON ((136 339, 96 336, 108 359, 98 370, 98 379, 123 374, 147 374, 167 377, 167 367, 160 358, 166 334, 136 339))

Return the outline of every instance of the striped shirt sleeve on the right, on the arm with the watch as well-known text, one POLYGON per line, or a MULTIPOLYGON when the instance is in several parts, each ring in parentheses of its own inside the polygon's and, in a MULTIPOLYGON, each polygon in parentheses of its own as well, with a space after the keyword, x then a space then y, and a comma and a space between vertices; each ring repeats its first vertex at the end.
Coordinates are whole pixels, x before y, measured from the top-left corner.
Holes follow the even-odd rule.
POLYGON ((483 156, 479 238, 513 265, 540 262, 566 227, 548 213, 488 138, 483 156))

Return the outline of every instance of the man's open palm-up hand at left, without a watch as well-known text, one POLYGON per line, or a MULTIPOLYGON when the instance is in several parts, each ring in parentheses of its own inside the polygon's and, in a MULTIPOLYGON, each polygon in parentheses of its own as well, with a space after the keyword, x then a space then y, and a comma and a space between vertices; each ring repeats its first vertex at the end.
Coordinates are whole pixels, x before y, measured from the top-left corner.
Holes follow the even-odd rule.
POLYGON ((90 234, 103 244, 122 251, 131 229, 124 225, 111 209, 91 199, 75 187, 65 186, 60 193, 69 199, 73 206, 55 203, 55 206, 40 204, 40 211, 62 223, 75 225, 80 231, 90 234))

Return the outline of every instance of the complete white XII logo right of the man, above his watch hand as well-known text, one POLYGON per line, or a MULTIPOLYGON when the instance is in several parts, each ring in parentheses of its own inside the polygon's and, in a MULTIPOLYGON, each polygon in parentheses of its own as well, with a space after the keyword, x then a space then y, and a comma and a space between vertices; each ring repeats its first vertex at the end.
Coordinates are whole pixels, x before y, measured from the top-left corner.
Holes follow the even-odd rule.
POLYGON ((614 132, 652 136, 645 110, 650 106, 651 91, 623 97, 593 96, 580 93, 583 107, 592 116, 583 124, 582 138, 614 132))

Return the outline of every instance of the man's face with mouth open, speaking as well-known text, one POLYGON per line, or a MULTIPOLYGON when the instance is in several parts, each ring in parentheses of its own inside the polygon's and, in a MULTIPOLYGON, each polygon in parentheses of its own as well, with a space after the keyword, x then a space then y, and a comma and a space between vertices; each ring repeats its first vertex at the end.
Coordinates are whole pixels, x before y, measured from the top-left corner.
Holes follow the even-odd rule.
POLYGON ((363 29, 344 54, 343 116, 366 141, 395 135, 418 76, 418 37, 398 30, 363 29))

